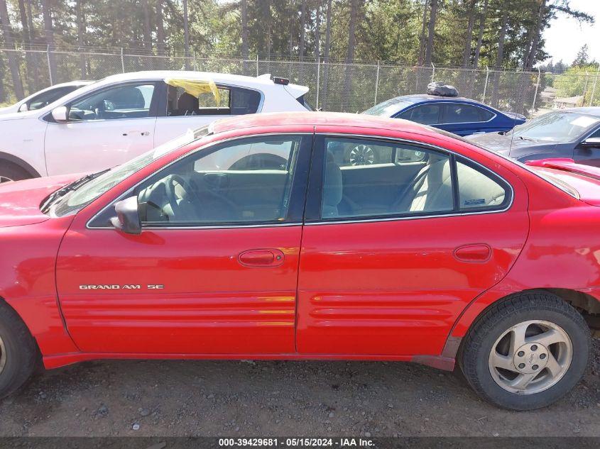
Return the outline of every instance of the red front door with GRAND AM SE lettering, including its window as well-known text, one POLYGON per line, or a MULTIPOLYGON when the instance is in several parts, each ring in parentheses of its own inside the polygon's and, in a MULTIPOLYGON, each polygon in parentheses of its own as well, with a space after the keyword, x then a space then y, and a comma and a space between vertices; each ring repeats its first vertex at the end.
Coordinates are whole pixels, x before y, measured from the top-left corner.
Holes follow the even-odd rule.
POLYGON ((75 220, 57 262, 60 306, 90 353, 295 351, 298 257, 312 135, 241 138, 192 153, 122 197, 143 231, 75 220), (249 156, 250 155, 250 156, 249 156))

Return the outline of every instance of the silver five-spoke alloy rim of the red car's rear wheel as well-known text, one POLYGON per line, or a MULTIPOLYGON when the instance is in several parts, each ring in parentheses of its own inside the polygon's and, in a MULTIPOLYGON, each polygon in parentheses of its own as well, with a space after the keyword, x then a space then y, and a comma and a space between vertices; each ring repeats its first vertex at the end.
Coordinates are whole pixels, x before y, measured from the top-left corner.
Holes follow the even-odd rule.
POLYGON ((489 370, 506 391, 535 394, 562 379, 572 358, 573 345, 563 328, 550 321, 523 321, 493 344, 489 370))

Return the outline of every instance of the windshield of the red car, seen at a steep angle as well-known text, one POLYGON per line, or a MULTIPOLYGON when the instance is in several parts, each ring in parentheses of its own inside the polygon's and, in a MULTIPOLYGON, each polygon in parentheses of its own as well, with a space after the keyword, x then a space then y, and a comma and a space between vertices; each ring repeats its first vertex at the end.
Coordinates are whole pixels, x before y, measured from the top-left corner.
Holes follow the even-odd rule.
POLYGON ((195 140, 203 138, 209 134, 209 125, 202 126, 195 131, 190 130, 189 132, 181 135, 178 138, 169 140, 163 145, 159 145, 153 150, 148 151, 139 155, 135 159, 125 162, 123 165, 114 167, 114 169, 101 174, 99 177, 93 178, 86 184, 63 196, 60 201, 55 204, 53 208, 53 215, 65 216, 69 214, 75 214, 87 206, 87 204, 97 199, 98 196, 108 192, 116 184, 123 181, 127 177, 130 177, 133 173, 138 172, 146 165, 157 160, 159 157, 181 148, 183 145, 192 143, 195 140))

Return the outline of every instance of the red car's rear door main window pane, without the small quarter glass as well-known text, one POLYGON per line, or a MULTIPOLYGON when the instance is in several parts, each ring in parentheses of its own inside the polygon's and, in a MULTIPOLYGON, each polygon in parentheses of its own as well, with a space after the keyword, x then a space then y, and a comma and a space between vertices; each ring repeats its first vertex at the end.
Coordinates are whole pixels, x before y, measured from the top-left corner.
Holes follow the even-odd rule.
POLYGON ((454 209, 450 157, 424 148, 373 140, 327 138, 322 218, 442 212, 454 209), (371 148, 388 163, 342 165, 348 148, 371 148), (412 156, 408 156, 412 153, 412 156), (391 155, 388 157, 388 155, 391 155), (406 165, 404 160, 418 162, 406 165))

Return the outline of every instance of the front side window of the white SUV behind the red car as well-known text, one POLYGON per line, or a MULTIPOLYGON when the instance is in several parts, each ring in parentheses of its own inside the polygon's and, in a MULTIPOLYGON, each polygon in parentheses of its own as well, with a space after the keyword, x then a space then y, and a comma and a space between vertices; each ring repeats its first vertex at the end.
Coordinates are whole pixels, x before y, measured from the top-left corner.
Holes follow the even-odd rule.
POLYGON ((150 116, 155 85, 125 84, 93 92, 70 104, 70 121, 118 120, 150 116))

